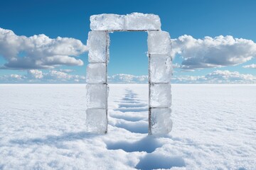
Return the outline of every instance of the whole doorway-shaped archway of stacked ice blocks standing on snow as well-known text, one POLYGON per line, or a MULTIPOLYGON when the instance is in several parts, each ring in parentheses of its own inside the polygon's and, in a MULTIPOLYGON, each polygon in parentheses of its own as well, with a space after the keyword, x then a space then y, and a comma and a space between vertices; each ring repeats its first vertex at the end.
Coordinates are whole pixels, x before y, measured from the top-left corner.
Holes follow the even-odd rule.
POLYGON ((90 132, 107 132, 107 63, 109 33, 114 31, 147 31, 149 57, 149 135, 171 131, 171 38, 161 30, 160 18, 154 14, 100 14, 90 17, 87 45, 87 111, 90 132))

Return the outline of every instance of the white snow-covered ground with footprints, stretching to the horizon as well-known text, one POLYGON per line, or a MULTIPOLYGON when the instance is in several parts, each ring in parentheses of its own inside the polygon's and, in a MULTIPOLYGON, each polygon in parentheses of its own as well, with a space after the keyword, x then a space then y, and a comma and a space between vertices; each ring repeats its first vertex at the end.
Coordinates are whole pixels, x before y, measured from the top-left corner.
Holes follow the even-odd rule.
POLYGON ((0 95, 0 169, 256 169, 256 85, 172 85, 173 130, 159 137, 147 84, 110 84, 107 135, 85 132, 85 85, 0 95))

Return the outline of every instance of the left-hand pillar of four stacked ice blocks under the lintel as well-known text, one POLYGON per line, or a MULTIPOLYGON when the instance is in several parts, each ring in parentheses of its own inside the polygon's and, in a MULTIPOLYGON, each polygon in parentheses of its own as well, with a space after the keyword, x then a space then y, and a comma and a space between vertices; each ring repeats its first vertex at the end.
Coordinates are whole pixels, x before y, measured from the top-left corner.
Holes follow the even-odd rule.
POLYGON ((89 64, 86 69, 86 128, 88 132, 107 132, 107 62, 109 33, 93 30, 88 34, 89 64))

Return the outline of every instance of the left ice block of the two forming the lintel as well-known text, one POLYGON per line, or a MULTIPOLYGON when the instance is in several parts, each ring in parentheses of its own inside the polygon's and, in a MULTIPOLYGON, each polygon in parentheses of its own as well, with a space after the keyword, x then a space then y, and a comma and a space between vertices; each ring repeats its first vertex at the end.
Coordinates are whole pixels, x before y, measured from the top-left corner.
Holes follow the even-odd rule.
POLYGON ((124 16, 117 14, 100 14, 90 16, 91 30, 124 30, 124 16))

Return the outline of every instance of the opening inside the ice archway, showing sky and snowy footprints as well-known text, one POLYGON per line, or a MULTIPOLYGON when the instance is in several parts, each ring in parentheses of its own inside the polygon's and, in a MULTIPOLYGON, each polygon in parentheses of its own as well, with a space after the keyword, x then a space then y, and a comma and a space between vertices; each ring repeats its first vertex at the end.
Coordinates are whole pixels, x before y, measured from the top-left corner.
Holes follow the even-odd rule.
POLYGON ((113 119, 119 128, 145 134, 149 132, 147 36, 146 32, 110 33, 107 65, 110 121, 113 119))

